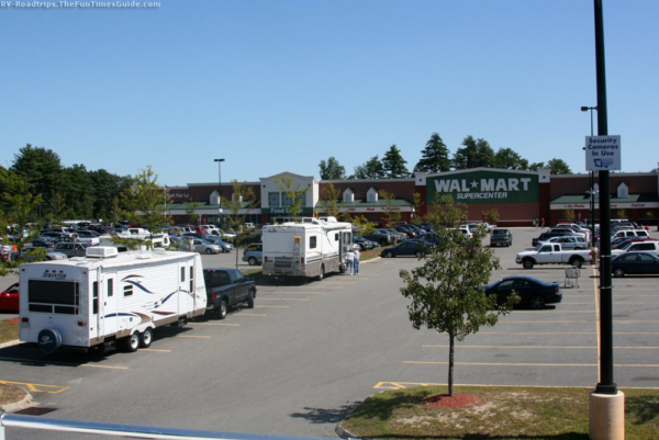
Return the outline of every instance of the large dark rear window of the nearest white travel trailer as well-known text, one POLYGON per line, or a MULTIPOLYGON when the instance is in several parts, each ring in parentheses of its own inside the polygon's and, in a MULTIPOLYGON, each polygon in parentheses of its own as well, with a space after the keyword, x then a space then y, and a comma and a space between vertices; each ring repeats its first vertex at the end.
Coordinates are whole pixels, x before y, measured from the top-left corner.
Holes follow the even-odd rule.
POLYGON ((80 306, 80 284, 70 281, 30 280, 30 312, 77 315, 80 306))

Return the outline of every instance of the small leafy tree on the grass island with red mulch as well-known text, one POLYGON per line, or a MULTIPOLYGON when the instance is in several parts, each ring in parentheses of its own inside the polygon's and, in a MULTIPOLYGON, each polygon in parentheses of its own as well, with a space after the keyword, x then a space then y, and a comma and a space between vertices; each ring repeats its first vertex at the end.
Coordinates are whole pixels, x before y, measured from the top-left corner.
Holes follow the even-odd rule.
POLYGON ((471 239, 454 229, 466 223, 465 205, 444 195, 433 203, 432 211, 427 218, 432 219, 439 241, 428 248, 423 266, 400 271, 405 283, 401 293, 412 300, 407 312, 415 329, 426 327, 448 335, 448 395, 453 397, 456 339, 462 341, 482 326, 495 325, 520 297, 513 293, 498 305, 496 295, 485 295, 482 286, 501 266, 490 248, 481 247, 483 228, 478 228, 471 239))

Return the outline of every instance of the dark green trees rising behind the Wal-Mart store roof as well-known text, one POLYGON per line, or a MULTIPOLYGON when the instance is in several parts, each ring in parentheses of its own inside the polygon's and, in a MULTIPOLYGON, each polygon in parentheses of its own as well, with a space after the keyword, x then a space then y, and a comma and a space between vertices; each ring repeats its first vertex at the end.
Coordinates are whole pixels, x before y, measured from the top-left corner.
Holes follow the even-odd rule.
POLYGON ((371 157, 366 162, 355 167, 353 174, 347 174, 346 169, 336 158, 321 160, 319 163, 322 180, 345 179, 396 179, 412 177, 413 172, 444 172, 465 170, 471 168, 501 168, 509 170, 537 171, 548 168, 552 174, 571 174, 570 167, 562 159, 551 159, 545 162, 529 162, 511 148, 501 148, 498 151, 485 139, 474 139, 467 136, 462 147, 451 156, 450 150, 437 133, 433 133, 422 157, 414 166, 412 172, 406 167, 407 161, 401 150, 394 145, 389 147, 382 159, 379 155, 371 157))

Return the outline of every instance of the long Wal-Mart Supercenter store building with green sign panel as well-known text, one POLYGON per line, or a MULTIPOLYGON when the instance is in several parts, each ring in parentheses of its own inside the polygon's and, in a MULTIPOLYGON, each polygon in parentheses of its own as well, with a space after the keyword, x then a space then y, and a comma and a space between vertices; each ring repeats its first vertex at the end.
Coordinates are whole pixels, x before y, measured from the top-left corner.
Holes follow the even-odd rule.
MULTIPOLYGON (((255 224, 272 223, 276 217, 290 215, 290 200, 277 184, 278 176, 292 178, 291 189, 309 187, 302 201, 302 215, 325 215, 323 199, 330 183, 342 194, 342 211, 355 216, 365 216, 370 222, 382 223, 390 208, 401 213, 403 222, 413 222, 429 212, 437 194, 449 194, 456 202, 468 206, 469 221, 485 221, 484 212, 495 208, 499 212, 499 226, 530 226, 534 221, 544 218, 552 225, 573 213, 576 221, 590 221, 591 206, 599 222, 599 194, 602 191, 590 174, 550 174, 548 169, 538 171, 515 171, 493 168, 438 173, 416 172, 407 179, 376 180, 316 180, 314 177, 281 172, 258 182, 243 182, 252 187, 256 196, 256 207, 247 210, 244 201, 241 215, 245 222, 255 224), (393 202, 383 200, 381 191, 393 194, 393 202), (415 194, 422 204, 414 206, 415 194)), ((611 217, 624 216, 639 224, 657 225, 659 217, 659 173, 612 173, 611 217)), ((169 213, 177 225, 190 223, 187 214, 190 202, 199 203, 194 212, 200 224, 222 223, 223 215, 232 214, 226 202, 220 211, 219 195, 223 200, 235 200, 233 184, 191 183, 187 187, 169 188, 169 213)))

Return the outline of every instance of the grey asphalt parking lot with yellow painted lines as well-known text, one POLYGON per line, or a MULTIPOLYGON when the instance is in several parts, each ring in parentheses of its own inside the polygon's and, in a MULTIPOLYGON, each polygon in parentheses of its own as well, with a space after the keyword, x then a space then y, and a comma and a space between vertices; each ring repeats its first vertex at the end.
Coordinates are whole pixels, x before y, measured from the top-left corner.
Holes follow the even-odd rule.
MULTIPOLYGON (((492 281, 524 274, 562 285, 562 266, 525 270, 514 262, 539 230, 514 228, 513 234, 513 247, 494 249, 503 269, 492 281)), ((236 256, 204 255, 202 260, 204 267, 235 267, 236 256)), ((250 268, 238 261, 241 269, 250 268)), ((110 351, 90 359, 3 348, 0 381, 30 390, 38 406, 54 408, 48 417, 334 437, 335 425, 378 391, 446 383, 448 338, 414 330, 407 300, 400 294, 399 270, 417 264, 416 258, 376 259, 362 262, 358 277, 259 285, 254 309, 239 307, 225 320, 158 329, 153 346, 136 353, 110 351)), ((656 284, 656 277, 613 280, 614 380, 619 387, 659 388, 656 284)), ((593 267, 581 270, 579 287, 562 291, 560 304, 515 309, 458 342, 456 385, 594 388, 593 267)), ((20 438, 72 437, 34 432, 20 438)))

